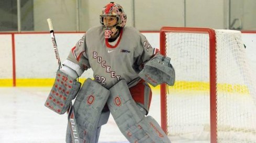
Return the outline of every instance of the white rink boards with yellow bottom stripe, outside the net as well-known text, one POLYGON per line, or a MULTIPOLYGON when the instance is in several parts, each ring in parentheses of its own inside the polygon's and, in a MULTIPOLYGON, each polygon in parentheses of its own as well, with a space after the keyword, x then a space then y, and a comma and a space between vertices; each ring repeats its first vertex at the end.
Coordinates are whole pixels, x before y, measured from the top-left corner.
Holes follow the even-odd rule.
MULTIPOLYGON (((63 62, 70 49, 84 33, 57 33, 60 59, 63 62)), ((159 48, 158 32, 142 32, 152 47, 159 48)), ((256 69, 256 33, 243 33, 247 56, 252 70, 256 69)), ((0 33, 0 87, 51 86, 58 64, 55 59, 49 33, 0 33)), ((81 81, 92 78, 93 72, 86 71, 81 81)), ((182 81, 181 81, 182 82, 182 81)), ((204 84, 200 83, 198 84, 204 84)))

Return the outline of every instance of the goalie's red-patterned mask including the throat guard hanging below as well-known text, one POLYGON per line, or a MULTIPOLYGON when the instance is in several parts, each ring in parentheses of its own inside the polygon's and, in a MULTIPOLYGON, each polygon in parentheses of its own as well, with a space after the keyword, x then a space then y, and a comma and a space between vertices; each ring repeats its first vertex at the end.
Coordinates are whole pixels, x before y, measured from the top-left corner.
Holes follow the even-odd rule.
POLYGON ((116 29, 121 29, 125 27, 126 24, 126 14, 121 5, 114 2, 110 2, 103 7, 101 15, 99 16, 100 22, 103 25, 103 30, 105 30, 105 38, 110 38, 110 33, 113 34, 116 29), (106 25, 104 23, 104 18, 106 17, 116 17, 117 22, 114 25, 106 25))

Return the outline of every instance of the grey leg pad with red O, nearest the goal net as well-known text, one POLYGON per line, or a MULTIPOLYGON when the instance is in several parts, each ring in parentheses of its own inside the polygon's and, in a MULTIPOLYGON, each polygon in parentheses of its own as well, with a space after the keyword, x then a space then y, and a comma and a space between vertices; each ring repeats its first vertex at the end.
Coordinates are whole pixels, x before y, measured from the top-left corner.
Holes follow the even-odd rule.
POLYGON ((110 90, 107 105, 121 133, 130 142, 170 142, 159 124, 132 99, 124 80, 110 90))

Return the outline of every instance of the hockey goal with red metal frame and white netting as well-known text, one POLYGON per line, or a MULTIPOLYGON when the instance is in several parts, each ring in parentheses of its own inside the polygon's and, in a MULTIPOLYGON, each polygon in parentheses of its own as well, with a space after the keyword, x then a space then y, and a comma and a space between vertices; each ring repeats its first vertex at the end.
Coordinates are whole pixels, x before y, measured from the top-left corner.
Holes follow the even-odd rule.
POLYGON ((161 29, 161 54, 176 73, 174 86, 161 85, 161 126, 171 141, 256 142, 256 84, 245 50, 240 31, 161 29))

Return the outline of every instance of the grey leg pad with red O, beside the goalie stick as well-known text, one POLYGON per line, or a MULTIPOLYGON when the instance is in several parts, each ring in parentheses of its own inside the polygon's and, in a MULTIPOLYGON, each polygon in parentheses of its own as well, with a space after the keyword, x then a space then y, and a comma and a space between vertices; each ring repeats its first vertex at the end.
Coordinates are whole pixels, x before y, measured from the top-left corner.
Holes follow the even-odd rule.
MULTIPOLYGON (((91 79, 87 79, 81 87, 74 102, 75 119, 81 141, 94 142, 95 139, 97 140, 95 131, 100 122, 104 124, 108 120, 109 114, 102 114, 102 110, 109 93, 108 89, 91 79), (102 121, 104 122, 102 123, 102 121)), ((66 141, 70 140, 70 132, 67 132, 66 141)))

